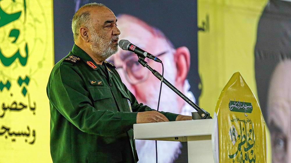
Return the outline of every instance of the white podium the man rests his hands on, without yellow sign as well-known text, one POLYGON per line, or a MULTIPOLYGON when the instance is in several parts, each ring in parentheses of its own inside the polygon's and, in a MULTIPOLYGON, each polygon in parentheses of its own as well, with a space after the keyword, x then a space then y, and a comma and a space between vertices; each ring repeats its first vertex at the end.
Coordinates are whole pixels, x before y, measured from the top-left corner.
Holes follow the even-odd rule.
POLYGON ((201 119, 134 124, 134 139, 188 142, 189 163, 214 163, 213 122, 201 119))

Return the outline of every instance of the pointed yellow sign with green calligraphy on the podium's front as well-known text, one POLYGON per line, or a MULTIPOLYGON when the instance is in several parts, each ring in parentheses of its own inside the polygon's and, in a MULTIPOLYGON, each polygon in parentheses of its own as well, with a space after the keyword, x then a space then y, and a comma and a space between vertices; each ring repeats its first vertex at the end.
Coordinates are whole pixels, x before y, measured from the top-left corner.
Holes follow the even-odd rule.
POLYGON ((215 112, 219 162, 265 163, 265 122, 258 102, 239 72, 223 88, 215 112))

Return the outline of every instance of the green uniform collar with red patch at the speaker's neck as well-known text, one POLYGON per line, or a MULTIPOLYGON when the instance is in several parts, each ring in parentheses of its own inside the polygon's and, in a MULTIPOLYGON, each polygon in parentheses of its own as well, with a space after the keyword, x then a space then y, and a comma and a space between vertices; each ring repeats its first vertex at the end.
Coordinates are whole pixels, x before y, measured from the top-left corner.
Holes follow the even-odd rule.
POLYGON ((86 65, 91 67, 93 70, 99 69, 95 61, 83 49, 81 49, 76 44, 74 44, 72 48, 72 53, 80 57, 86 63, 86 65))

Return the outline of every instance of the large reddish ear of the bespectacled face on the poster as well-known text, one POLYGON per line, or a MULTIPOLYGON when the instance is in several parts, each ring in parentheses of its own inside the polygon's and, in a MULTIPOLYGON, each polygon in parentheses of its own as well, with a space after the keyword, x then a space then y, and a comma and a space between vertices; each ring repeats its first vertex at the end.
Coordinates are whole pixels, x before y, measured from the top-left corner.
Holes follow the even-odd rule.
POLYGON ((190 52, 185 46, 176 49, 174 60, 177 68, 175 84, 182 89, 190 68, 190 52))

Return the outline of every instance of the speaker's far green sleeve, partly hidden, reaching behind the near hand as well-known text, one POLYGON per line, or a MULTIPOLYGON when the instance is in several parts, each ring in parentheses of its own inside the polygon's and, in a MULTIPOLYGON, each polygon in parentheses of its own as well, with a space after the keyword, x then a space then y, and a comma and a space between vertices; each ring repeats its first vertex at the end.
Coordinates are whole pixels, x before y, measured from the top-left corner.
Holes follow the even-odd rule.
MULTIPOLYGON (((125 85, 124 85, 124 88, 126 90, 127 95, 130 98, 133 112, 156 111, 155 109, 152 109, 146 105, 143 105, 142 103, 138 103, 135 96, 127 89, 125 85)), ((163 112, 163 111, 159 111, 159 112, 164 114, 169 119, 169 121, 175 121, 177 116, 179 115, 179 114, 170 113, 170 112, 163 112)))

